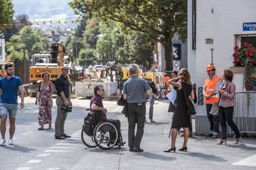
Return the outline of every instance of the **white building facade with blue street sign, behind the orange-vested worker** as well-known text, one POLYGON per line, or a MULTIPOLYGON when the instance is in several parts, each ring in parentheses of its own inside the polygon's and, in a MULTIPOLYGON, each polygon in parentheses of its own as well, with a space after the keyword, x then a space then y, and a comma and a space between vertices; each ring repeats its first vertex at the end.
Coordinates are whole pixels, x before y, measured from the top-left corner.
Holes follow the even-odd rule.
MULTIPOLYGON (((199 90, 196 104, 198 134, 209 132, 206 105, 201 94, 207 78, 206 67, 213 62, 216 74, 221 76, 223 69, 233 67, 235 45, 240 47, 243 42, 256 45, 255 6, 254 0, 188 0, 188 69, 199 90)), ((243 91, 241 75, 234 75, 236 92, 243 91)))

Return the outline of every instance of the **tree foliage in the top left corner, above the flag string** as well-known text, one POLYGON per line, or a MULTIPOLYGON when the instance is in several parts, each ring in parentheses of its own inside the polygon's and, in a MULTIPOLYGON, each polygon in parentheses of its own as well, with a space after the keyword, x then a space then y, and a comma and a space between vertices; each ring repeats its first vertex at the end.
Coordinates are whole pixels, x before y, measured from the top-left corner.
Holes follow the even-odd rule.
POLYGON ((0 25, 10 24, 14 18, 14 4, 11 0, 0 0, 0 25))

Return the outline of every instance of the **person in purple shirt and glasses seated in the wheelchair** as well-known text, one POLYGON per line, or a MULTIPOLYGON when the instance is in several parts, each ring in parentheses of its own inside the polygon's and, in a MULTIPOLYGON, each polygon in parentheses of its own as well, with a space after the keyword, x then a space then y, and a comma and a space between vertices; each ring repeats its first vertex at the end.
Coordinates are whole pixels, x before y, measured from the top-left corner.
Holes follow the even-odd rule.
MULTIPOLYGON (((90 111, 92 111, 95 115, 96 124, 101 123, 102 121, 105 121, 107 123, 114 125, 114 127, 117 129, 117 135, 118 135, 117 142, 115 143, 115 145, 118 145, 119 147, 121 145, 124 146, 125 142, 123 142, 122 140, 122 135, 120 130, 121 129, 120 120, 107 119, 107 114, 106 114, 107 109, 104 108, 102 103, 102 97, 105 96, 104 87, 102 85, 95 86, 94 93, 95 93, 95 96, 93 96, 90 101, 90 111)), ((108 134, 110 134, 110 132, 108 134)), ((115 135, 110 135, 110 141, 114 142, 114 138, 115 138, 115 135)))

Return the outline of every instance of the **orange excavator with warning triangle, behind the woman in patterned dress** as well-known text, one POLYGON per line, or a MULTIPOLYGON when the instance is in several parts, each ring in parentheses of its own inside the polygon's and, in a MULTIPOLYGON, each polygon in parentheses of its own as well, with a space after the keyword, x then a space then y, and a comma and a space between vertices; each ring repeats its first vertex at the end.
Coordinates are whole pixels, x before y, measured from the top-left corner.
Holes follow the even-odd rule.
POLYGON ((50 45, 50 54, 35 54, 32 56, 31 67, 29 69, 28 94, 36 97, 38 91, 38 82, 42 81, 43 72, 50 73, 50 81, 54 81, 61 74, 63 67, 63 53, 65 47, 63 42, 55 42, 50 45))

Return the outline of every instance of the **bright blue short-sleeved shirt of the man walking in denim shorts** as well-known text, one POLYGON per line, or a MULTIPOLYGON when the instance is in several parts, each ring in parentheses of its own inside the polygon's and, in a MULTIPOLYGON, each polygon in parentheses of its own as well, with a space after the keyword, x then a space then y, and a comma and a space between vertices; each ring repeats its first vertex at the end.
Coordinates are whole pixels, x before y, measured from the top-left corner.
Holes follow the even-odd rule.
POLYGON ((22 86, 21 79, 12 75, 11 79, 0 79, 1 103, 18 104, 18 86, 22 86))

